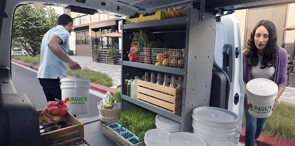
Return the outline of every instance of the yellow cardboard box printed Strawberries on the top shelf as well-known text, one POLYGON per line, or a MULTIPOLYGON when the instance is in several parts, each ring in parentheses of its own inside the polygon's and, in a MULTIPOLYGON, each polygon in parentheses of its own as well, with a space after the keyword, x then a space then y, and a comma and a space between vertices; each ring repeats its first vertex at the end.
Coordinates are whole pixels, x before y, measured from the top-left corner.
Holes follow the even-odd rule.
POLYGON ((137 22, 146 22, 146 21, 154 21, 154 20, 161 20, 165 19, 165 11, 156 11, 155 15, 151 16, 143 16, 143 14, 140 14, 138 18, 132 18, 129 19, 129 17, 126 17, 126 24, 128 23, 137 23, 137 22))

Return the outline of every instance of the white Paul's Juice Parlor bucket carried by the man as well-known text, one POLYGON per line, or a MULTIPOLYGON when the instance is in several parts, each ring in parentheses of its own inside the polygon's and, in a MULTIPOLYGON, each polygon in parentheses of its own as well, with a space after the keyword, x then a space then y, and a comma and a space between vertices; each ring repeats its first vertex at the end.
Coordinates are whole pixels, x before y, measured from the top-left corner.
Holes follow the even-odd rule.
POLYGON ((72 115, 88 113, 90 79, 87 78, 62 78, 61 99, 68 106, 72 115))

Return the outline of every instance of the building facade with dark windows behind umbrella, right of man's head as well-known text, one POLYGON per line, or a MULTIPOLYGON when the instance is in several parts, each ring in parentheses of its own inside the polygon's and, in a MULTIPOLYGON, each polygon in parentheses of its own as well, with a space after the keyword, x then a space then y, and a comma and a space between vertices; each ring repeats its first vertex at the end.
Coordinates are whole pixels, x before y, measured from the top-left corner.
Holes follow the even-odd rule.
POLYGON ((107 14, 81 14, 64 10, 73 18, 73 31, 70 34, 70 50, 74 55, 92 57, 94 45, 101 44, 101 49, 109 49, 115 45, 121 50, 121 38, 102 37, 101 35, 111 32, 121 32, 121 20, 107 14))

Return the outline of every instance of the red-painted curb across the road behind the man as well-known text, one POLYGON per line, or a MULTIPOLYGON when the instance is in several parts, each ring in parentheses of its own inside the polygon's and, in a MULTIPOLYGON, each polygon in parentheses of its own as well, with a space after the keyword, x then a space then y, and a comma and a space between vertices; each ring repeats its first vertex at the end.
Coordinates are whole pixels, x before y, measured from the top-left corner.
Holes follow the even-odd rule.
MULTIPOLYGON (((14 60, 14 59, 11 59, 11 61, 15 62, 15 63, 18 63, 18 64, 20 64, 22 66, 26 66, 26 67, 28 67, 30 65, 28 63, 18 61, 18 60, 14 60)), ((38 71, 39 66, 33 66, 32 69, 35 70, 35 71, 38 71)), ((70 76, 70 75, 67 75, 67 78, 74 78, 74 77, 70 76)), ((96 83, 92 83, 92 82, 91 82, 90 89, 95 90, 95 91, 100 92, 100 93, 103 93, 103 94, 106 94, 106 92, 108 92, 108 91, 110 91, 110 93, 113 94, 116 91, 116 89, 109 88, 109 87, 99 85, 99 84, 96 84, 96 83)))

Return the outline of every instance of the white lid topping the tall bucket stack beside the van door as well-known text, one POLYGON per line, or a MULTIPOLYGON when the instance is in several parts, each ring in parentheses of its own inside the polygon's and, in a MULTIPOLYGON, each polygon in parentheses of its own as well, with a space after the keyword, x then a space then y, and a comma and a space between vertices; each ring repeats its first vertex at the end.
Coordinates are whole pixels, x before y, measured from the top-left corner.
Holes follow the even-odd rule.
POLYGON ((198 107, 191 116, 198 122, 212 127, 236 127, 240 118, 236 113, 216 107, 198 107))

